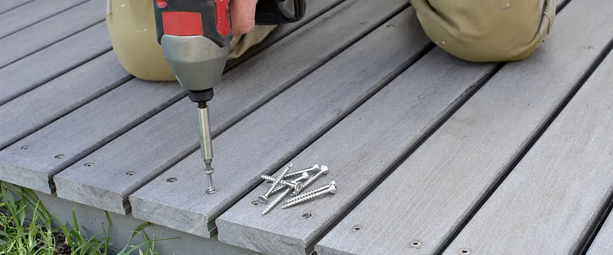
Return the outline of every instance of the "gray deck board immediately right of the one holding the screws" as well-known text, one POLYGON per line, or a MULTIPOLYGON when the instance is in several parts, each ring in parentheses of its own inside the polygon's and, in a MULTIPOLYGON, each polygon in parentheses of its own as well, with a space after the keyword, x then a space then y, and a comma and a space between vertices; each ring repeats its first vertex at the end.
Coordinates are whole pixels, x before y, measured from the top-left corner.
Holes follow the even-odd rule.
MULTIPOLYGON (((556 17, 556 29, 533 56, 505 65, 333 227, 316 245, 317 253, 436 253, 603 51, 611 39, 603 34, 613 28, 613 8, 602 8, 603 4, 571 1, 556 17), (593 15, 596 9, 602 15, 593 15), (356 224, 362 226, 360 231, 352 231, 356 224), (421 242, 419 249, 411 248, 412 240, 421 242)), ((528 233, 520 233, 524 234, 528 233)), ((531 254, 535 246, 549 245, 532 241, 508 244, 513 253, 520 247, 522 254, 531 254)), ((459 254, 457 248, 447 251, 459 254)))

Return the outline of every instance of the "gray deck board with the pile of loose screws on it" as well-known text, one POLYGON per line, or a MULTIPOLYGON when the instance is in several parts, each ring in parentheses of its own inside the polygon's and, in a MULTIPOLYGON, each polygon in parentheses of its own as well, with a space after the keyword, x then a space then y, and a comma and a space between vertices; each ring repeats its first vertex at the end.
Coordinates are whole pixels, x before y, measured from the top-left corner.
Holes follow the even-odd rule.
MULTIPOLYGON (((379 35, 387 42, 406 42, 406 37, 426 38, 412 9, 389 24, 395 28, 379 35)), ((374 43, 371 49, 389 54, 377 50, 374 43)), ((476 89, 494 67, 459 61, 438 48, 430 51, 291 159, 298 168, 313 163, 329 166, 330 173, 313 183, 309 190, 335 180, 336 194, 291 209, 281 209, 278 205, 261 216, 266 205, 254 207, 249 203, 269 188, 261 185, 219 216, 216 220, 219 240, 266 254, 309 254, 314 240, 476 89), (312 218, 302 219, 300 215, 305 212, 310 212, 312 218)))

